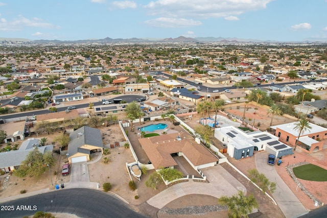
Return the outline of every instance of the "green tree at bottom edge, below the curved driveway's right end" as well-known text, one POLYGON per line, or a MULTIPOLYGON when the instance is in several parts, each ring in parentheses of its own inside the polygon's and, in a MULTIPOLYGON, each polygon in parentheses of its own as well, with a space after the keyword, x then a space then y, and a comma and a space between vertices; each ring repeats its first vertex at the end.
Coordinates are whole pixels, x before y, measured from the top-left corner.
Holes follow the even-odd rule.
POLYGON ((218 202, 228 207, 228 217, 232 218, 248 217, 254 208, 259 207, 252 193, 249 196, 244 196, 241 190, 239 190, 238 195, 232 197, 222 196, 218 202))

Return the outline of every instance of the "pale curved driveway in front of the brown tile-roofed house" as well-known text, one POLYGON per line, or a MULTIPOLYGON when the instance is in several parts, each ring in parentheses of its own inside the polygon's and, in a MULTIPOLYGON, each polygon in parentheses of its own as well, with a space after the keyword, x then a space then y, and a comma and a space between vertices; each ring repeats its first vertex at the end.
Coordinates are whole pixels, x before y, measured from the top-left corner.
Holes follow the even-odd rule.
POLYGON ((198 194, 220 198, 222 196, 235 195, 238 190, 242 190, 246 194, 244 185, 230 175, 222 166, 207 167, 201 169, 201 171, 207 177, 208 183, 194 182, 193 180, 181 182, 161 191, 149 199, 147 203, 161 209, 169 202, 185 195, 198 194))

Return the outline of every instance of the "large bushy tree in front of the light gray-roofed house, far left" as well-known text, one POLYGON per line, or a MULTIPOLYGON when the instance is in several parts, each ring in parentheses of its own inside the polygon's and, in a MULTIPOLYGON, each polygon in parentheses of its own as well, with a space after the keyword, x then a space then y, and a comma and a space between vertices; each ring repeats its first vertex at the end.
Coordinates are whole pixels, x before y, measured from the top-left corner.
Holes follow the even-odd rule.
POLYGON ((52 153, 46 152, 42 155, 39 150, 33 149, 22 161, 19 168, 14 172, 14 174, 18 177, 26 177, 26 176, 40 176, 42 175, 46 169, 48 169, 47 164, 53 165, 55 163, 55 158, 52 156, 52 153), (50 153, 50 154, 49 154, 50 153), (44 159, 43 157, 46 158, 44 159))

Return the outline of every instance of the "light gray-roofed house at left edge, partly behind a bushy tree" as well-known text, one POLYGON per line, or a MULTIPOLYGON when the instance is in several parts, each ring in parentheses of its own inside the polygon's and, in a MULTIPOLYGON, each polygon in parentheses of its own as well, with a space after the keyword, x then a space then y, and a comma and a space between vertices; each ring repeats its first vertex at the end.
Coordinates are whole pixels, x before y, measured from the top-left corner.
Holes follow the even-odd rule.
POLYGON ((18 150, 1 152, 0 153, 0 169, 6 173, 18 169, 21 162, 24 161, 27 155, 34 149, 38 149, 43 155, 45 152, 52 152, 53 144, 50 146, 39 146, 39 139, 28 139, 21 143, 18 150))

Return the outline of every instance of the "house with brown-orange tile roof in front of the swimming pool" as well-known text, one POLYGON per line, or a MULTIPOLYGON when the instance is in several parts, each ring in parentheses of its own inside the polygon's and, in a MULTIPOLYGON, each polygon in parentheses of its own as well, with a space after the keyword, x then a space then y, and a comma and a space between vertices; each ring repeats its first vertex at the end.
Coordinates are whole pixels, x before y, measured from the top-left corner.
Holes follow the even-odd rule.
POLYGON ((180 133, 140 138, 138 141, 155 169, 178 165, 172 157, 175 153, 184 156, 194 169, 214 166, 218 163, 218 158, 211 152, 196 143, 193 138, 187 138, 187 135, 180 133), (177 135, 180 135, 181 140, 176 139, 177 135))

